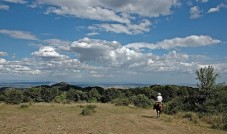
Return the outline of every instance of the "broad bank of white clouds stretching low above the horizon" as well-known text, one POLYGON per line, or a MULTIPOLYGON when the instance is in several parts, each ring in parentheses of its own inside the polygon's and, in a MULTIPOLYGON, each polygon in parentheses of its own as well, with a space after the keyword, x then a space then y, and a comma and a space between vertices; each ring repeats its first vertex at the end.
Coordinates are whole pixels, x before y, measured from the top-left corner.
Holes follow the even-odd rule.
MULTIPOLYGON (((49 39, 43 42, 49 45, 40 46, 37 51, 31 53, 32 57, 19 61, 7 61, 0 58, 0 74, 1 76, 18 75, 23 78, 34 77, 34 75, 36 78, 48 76, 48 80, 116 79, 118 76, 124 77, 122 73, 127 77, 132 75, 143 77, 160 72, 193 74, 206 61, 195 60, 193 55, 180 53, 174 48, 206 46, 218 42, 220 41, 209 36, 192 35, 168 39, 152 45, 147 43, 150 49, 173 48, 164 54, 155 55, 151 52, 140 51, 145 43, 138 43, 139 50, 135 50, 133 44, 123 46, 117 41, 83 38, 69 43, 59 39, 49 39), (62 46, 67 46, 67 49, 60 49, 62 46)), ((226 69, 226 64, 215 66, 219 70, 226 69)))

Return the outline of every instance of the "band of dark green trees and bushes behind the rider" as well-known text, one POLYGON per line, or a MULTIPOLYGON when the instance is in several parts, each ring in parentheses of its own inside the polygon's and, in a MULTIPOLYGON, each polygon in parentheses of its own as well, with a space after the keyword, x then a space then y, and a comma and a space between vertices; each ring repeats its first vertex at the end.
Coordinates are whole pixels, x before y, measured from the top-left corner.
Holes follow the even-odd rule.
MULTIPOLYGON (((166 114, 179 112, 196 113, 197 117, 210 123, 213 128, 227 130, 227 86, 215 84, 218 77, 213 67, 196 71, 198 87, 177 85, 151 85, 137 88, 79 87, 65 82, 30 88, 0 88, 0 101, 7 104, 32 102, 56 103, 113 103, 116 106, 134 105, 151 108, 157 93, 164 100, 166 114)), ((192 114, 188 118, 192 118, 192 114)))

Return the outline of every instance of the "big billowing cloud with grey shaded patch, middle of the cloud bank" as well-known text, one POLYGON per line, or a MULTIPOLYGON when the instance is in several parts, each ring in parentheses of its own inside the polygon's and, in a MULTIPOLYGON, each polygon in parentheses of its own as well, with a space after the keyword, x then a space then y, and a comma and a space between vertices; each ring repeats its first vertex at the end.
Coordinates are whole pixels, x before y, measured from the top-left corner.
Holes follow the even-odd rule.
POLYGON ((116 41, 84 38, 73 42, 70 50, 79 54, 82 62, 104 66, 122 67, 138 62, 142 58, 141 53, 123 47, 116 41))

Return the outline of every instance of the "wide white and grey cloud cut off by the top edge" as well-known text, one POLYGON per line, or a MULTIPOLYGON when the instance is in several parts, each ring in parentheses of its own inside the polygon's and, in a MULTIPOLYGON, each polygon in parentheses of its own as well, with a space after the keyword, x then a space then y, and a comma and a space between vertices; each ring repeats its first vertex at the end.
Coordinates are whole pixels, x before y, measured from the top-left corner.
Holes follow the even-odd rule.
POLYGON ((51 6, 48 13, 58 15, 73 15, 81 18, 97 19, 104 21, 129 22, 118 13, 137 14, 146 17, 158 17, 171 14, 171 8, 177 6, 177 0, 36 0, 38 4, 51 6))

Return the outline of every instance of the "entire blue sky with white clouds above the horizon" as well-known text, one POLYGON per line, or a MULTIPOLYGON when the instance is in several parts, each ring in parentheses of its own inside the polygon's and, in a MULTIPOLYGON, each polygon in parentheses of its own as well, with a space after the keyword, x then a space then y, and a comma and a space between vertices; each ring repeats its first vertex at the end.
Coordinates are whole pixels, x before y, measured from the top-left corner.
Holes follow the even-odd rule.
POLYGON ((227 0, 0 0, 0 82, 227 82, 227 0))

